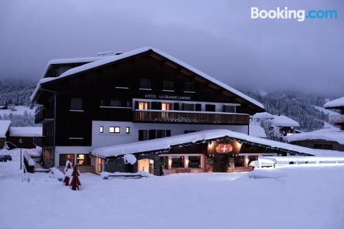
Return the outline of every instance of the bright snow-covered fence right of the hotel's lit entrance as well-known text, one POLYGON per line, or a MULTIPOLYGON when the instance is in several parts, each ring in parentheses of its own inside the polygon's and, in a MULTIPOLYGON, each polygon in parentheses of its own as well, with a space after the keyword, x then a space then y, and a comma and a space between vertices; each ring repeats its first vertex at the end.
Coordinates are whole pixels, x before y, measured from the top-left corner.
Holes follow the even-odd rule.
POLYGON ((258 157, 259 168, 264 165, 283 166, 287 164, 342 164, 343 157, 315 157, 315 156, 269 156, 258 157))

